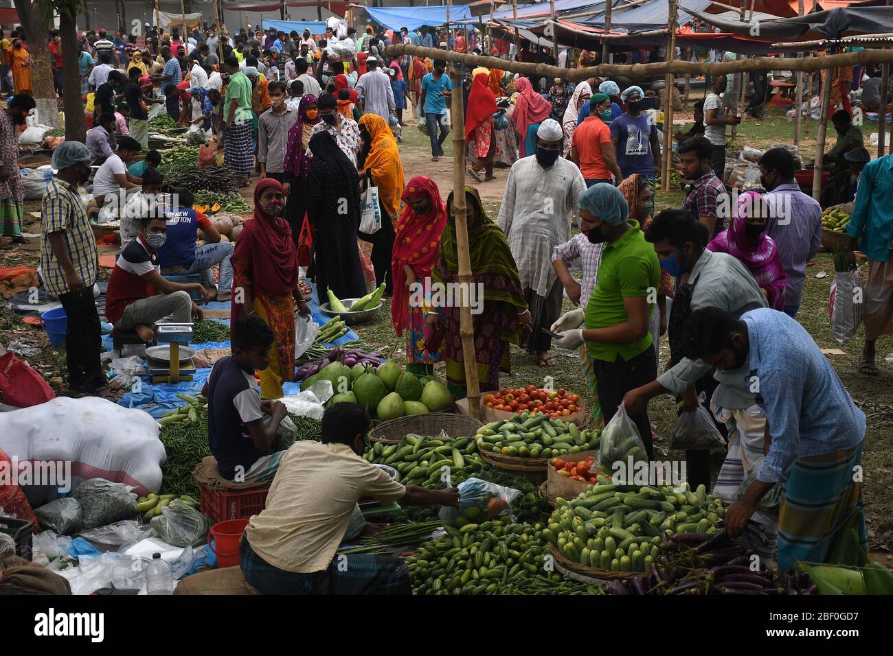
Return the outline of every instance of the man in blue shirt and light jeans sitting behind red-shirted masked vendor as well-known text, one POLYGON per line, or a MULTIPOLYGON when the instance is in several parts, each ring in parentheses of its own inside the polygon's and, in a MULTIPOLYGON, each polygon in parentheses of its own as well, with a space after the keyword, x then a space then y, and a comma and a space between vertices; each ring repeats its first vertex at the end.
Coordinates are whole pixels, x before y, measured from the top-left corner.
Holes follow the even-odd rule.
POLYGON ((177 204, 164 213, 168 224, 167 240, 158 249, 158 263, 162 273, 170 276, 201 273, 202 286, 211 293, 208 301, 229 301, 232 287, 232 243, 221 240, 221 234, 204 212, 192 209, 195 202, 192 192, 186 189, 169 191, 177 204), (197 228, 201 228, 204 233, 205 244, 200 246, 196 246, 197 228), (211 270, 215 264, 220 265, 219 284, 214 283, 211 270), (218 293, 218 289, 223 292, 218 293))

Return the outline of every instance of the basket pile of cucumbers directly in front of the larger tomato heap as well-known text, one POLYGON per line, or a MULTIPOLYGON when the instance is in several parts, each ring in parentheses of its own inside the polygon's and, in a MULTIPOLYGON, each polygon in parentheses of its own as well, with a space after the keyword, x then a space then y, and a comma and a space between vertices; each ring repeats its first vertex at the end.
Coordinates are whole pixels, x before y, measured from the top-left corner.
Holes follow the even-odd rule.
POLYGON ((479 451, 527 458, 552 458, 597 449, 597 428, 580 430, 570 421, 524 411, 512 419, 491 421, 474 436, 479 451))

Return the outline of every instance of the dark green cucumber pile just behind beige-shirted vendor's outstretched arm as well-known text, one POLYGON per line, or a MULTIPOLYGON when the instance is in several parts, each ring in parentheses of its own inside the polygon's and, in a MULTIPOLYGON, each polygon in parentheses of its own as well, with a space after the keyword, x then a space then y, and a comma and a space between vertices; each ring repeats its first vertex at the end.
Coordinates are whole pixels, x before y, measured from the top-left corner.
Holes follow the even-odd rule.
POLYGON ((397 444, 376 442, 363 453, 367 462, 390 465, 400 472, 400 482, 412 486, 432 486, 442 480, 444 467, 450 474, 469 474, 483 462, 471 437, 408 435, 397 444))

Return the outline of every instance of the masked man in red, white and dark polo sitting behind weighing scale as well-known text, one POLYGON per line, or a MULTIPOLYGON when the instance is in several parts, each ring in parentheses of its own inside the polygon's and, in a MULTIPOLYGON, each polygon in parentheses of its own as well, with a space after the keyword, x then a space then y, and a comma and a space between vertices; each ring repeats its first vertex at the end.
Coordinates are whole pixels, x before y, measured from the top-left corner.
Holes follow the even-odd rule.
POLYGON ((189 323, 192 318, 203 318, 189 297, 190 291, 205 298, 209 295, 198 283, 180 284, 162 277, 156 258, 166 238, 163 216, 150 213, 143 217, 137 238, 114 263, 105 291, 106 319, 118 330, 136 331, 146 344, 154 342, 156 323, 189 323))

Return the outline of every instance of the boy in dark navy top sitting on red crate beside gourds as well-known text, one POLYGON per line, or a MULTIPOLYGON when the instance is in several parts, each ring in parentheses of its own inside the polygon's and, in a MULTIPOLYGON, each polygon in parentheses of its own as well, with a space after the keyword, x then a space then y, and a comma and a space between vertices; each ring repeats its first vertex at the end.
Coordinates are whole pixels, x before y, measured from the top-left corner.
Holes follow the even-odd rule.
POLYGON ((208 444, 221 476, 237 483, 269 482, 284 451, 274 452, 280 422, 288 414, 280 401, 261 401, 255 370, 270 365, 273 333, 256 314, 232 326, 232 355, 214 363, 202 388, 208 399, 208 444), (271 415, 263 425, 263 412, 271 415))

